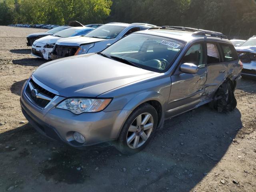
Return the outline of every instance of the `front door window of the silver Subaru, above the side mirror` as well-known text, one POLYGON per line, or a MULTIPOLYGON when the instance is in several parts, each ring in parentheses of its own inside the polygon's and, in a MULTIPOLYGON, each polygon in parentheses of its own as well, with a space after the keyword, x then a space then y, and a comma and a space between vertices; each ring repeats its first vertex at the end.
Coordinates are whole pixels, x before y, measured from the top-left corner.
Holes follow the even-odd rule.
POLYGON ((197 65, 198 68, 205 67, 203 44, 198 43, 192 45, 186 52, 185 56, 182 58, 181 63, 192 63, 197 65))

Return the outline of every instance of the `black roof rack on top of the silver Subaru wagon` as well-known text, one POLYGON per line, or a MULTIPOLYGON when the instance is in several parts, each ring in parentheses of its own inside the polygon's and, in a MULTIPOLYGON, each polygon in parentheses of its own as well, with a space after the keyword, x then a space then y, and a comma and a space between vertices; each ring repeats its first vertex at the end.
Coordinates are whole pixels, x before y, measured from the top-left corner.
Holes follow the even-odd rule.
POLYGON ((206 35, 210 35, 212 37, 228 39, 226 35, 224 35, 224 34, 222 34, 220 32, 208 31, 208 30, 196 29, 196 28, 190 28, 190 27, 162 26, 162 27, 151 27, 151 28, 149 28, 149 30, 150 29, 169 29, 169 30, 190 31, 190 32, 194 32, 194 33, 192 33, 192 36, 206 36, 206 35))

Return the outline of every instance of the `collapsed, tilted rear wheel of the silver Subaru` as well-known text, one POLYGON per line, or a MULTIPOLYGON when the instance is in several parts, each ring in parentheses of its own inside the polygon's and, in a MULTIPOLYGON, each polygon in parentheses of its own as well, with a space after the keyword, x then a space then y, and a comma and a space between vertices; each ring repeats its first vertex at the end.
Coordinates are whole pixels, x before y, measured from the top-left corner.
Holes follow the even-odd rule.
POLYGON ((232 90, 232 82, 225 80, 214 95, 214 100, 209 106, 218 112, 231 112, 236 108, 236 98, 232 90))

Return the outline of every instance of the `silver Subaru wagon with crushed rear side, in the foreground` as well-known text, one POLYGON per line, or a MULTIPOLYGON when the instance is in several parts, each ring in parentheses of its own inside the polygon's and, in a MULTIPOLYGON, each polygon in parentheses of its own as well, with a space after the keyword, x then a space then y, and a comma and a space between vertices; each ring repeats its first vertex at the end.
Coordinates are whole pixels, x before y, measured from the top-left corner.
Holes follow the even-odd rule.
POLYGON ((22 88, 38 132, 76 148, 114 140, 142 150, 164 120, 209 103, 236 107, 242 64, 221 33, 163 26, 132 33, 102 52, 41 65, 22 88))

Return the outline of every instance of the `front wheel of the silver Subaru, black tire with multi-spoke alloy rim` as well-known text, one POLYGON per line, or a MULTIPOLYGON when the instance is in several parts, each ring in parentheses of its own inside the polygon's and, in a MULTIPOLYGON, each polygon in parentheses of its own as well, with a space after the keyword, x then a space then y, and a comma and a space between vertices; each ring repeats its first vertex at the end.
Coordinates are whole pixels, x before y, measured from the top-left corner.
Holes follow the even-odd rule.
POLYGON ((127 118, 115 147, 126 155, 140 152, 154 136, 157 124, 156 109, 150 104, 142 104, 127 118))

